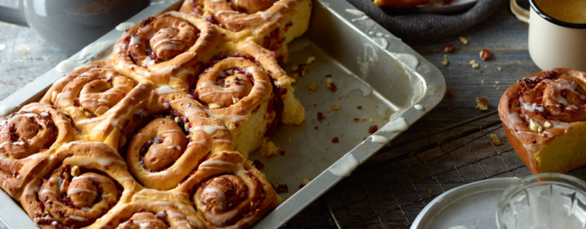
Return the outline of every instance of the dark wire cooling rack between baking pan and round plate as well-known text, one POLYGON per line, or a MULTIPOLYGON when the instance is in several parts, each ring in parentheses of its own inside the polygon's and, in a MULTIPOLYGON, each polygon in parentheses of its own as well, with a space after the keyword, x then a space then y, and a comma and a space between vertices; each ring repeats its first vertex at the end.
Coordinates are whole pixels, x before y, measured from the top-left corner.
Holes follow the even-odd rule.
MULTIPOLYGON (((382 151, 394 151, 495 114, 496 111, 490 112, 382 151)), ((408 228, 425 205, 449 189, 483 179, 531 174, 507 141, 502 123, 495 120, 393 159, 363 166, 324 198, 338 228, 408 228), (496 134, 502 144, 492 144, 490 134, 496 134)), ((586 168, 569 174, 584 179, 586 168)))

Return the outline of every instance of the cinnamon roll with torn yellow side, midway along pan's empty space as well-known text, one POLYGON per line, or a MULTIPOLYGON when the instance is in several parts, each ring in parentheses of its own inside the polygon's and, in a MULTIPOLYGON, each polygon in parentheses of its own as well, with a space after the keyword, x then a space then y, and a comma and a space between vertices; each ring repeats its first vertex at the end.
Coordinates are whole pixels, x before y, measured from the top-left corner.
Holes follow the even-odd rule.
POLYGON ((222 120, 245 158, 274 134, 277 124, 301 124, 304 107, 293 94, 292 79, 270 51, 254 43, 226 43, 210 67, 190 86, 189 95, 222 120))

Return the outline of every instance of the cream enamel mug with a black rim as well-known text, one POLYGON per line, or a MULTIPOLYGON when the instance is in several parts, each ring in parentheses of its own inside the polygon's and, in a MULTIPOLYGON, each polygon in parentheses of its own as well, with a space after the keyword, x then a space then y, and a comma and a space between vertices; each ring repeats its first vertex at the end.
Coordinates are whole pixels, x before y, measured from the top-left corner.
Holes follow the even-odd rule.
POLYGON ((541 70, 574 68, 586 71, 586 24, 568 23, 547 15, 529 0, 529 11, 510 0, 511 12, 529 23, 529 54, 541 70))

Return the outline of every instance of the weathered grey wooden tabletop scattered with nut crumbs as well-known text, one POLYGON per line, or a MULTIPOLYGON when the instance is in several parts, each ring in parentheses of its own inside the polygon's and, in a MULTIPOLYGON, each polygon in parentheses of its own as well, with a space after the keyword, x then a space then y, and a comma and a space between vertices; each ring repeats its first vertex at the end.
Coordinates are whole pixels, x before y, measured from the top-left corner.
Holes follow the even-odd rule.
MULTIPOLYGON (((15 2, 0 0, 0 5, 14 6, 15 2)), ((447 88, 454 93, 454 96, 451 99, 444 98, 440 105, 398 137, 394 141, 395 143, 437 131, 486 113, 475 109, 475 98, 479 96, 484 96, 489 100, 489 111, 496 110, 500 96, 508 86, 527 75, 540 71, 533 64, 527 51, 527 24, 513 17, 504 5, 488 20, 465 32, 445 39, 432 40, 428 43, 411 43, 410 45, 440 68, 444 74, 447 88), (462 44, 458 40, 459 36, 466 37, 470 43, 468 45, 462 44), (445 55, 442 47, 445 44, 454 46, 454 52, 447 54, 449 64, 446 67, 441 64, 445 55), (480 60, 479 52, 484 48, 492 52, 492 60, 480 60), (471 68, 468 61, 472 59, 480 64, 480 68, 471 68), (499 71, 498 67, 502 70, 499 71)), ((67 53, 47 44, 28 27, 0 22, 0 84, 3 88, 0 90, 0 100, 50 70, 71 54, 73 53, 67 53), (3 44, 5 44, 5 48, 2 48, 3 44)), ((488 123, 496 119, 498 116, 492 116, 479 122, 481 124, 488 123)), ((478 126, 479 122, 426 138, 417 145, 432 143, 450 134, 459 133, 458 131, 471 129, 478 126)), ((506 141, 506 139, 502 140, 506 141)), ((417 145, 413 147, 415 148, 417 145)), ((393 154, 380 154, 367 163, 382 161, 391 155, 393 154)), ((346 179, 352 179, 352 177, 346 179)), ((369 185, 380 184, 372 183, 369 185)), ((326 193, 326 196, 328 195, 330 193, 326 193)), ((339 218, 339 220, 344 219, 339 218)), ((2 227, 3 225, 0 224, 0 228, 2 227)), ((333 227, 325 207, 325 200, 322 198, 311 204, 297 217, 289 221, 286 227, 333 227)))

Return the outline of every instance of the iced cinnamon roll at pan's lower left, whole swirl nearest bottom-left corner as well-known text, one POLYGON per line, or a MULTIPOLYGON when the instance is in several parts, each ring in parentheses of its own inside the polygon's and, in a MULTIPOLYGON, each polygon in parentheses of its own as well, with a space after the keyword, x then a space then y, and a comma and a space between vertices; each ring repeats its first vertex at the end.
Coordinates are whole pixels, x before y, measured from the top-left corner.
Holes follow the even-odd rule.
POLYGON ((60 165, 30 182, 21 198, 22 207, 42 228, 91 225, 115 205, 129 202, 125 192, 139 188, 109 145, 73 141, 56 154, 60 165))

